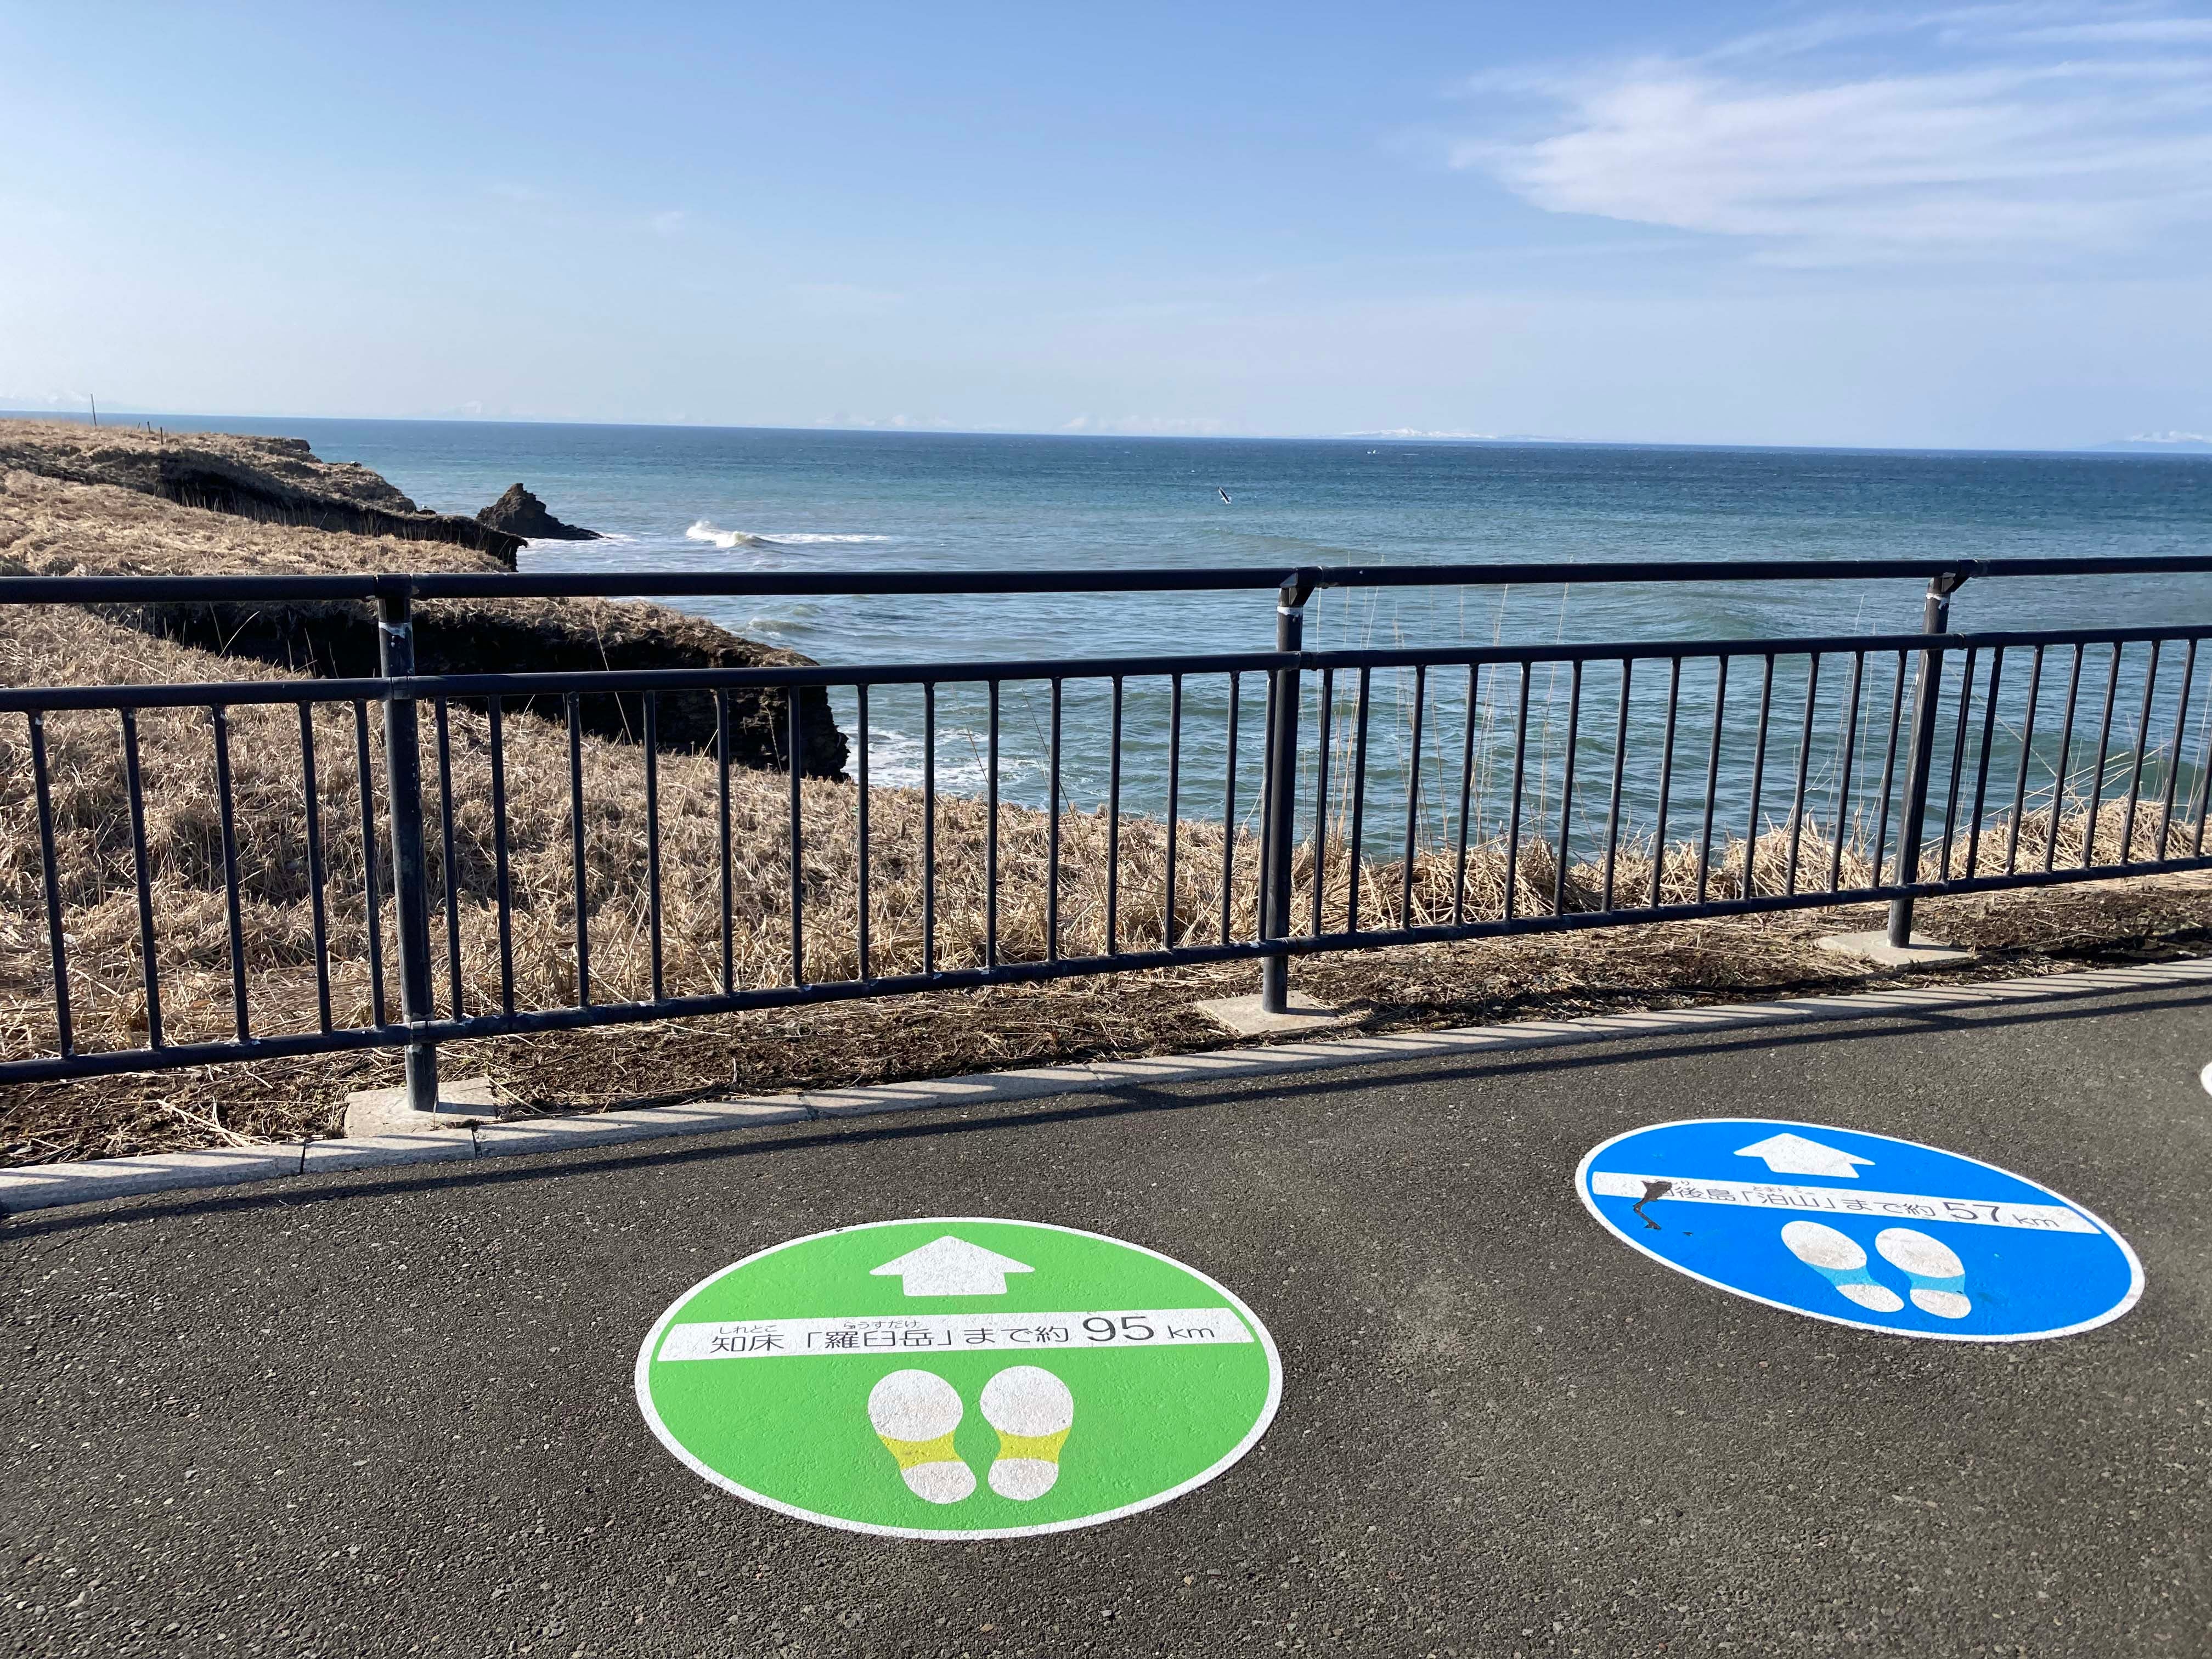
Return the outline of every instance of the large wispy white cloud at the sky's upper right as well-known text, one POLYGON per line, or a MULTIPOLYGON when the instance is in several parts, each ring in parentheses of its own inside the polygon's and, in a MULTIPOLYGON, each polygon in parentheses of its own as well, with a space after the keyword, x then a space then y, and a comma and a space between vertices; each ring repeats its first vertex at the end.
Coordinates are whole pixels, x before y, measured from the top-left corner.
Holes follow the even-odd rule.
POLYGON ((2115 254, 2212 221, 2212 38, 2194 51, 2194 20, 2062 11, 2081 18, 1847 13, 1701 58, 1522 75, 1537 126, 1451 159, 1553 212, 1739 237, 1787 263, 2115 254), (2192 29, 2157 51, 2053 38, 2168 24, 2192 29))

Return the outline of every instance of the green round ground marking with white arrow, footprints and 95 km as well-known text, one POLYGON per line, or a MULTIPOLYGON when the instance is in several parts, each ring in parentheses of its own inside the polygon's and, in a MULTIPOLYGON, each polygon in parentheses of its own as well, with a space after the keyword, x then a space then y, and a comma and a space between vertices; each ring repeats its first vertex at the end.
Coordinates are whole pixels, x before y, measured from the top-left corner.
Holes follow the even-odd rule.
POLYGON ((754 1504, 891 1537, 1135 1515, 1259 1442, 1259 1316, 1157 1250, 1042 1221, 874 1221, 692 1285, 637 1349, 677 1458, 754 1504))

